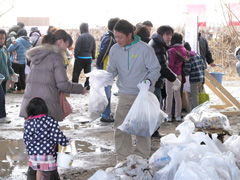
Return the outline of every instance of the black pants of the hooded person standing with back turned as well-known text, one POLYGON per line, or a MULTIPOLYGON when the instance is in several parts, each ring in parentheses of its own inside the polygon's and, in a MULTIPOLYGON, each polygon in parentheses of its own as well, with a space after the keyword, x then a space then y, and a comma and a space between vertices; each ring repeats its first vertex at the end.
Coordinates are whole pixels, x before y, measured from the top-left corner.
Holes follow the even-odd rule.
MULTIPOLYGON (((74 62, 72 82, 78 83, 79 75, 82 69, 84 69, 84 73, 91 72, 91 63, 92 63, 92 59, 76 58, 74 62)), ((86 78, 84 87, 89 87, 89 77, 86 78)))

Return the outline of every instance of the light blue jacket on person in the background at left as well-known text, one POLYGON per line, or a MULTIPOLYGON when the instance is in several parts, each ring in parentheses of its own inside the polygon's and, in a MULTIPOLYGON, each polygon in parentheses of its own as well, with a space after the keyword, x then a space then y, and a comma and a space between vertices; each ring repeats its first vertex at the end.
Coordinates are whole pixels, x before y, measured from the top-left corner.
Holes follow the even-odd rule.
MULTIPOLYGON (((8 47, 8 51, 9 52, 16 51, 18 64, 25 64, 25 59, 26 59, 25 52, 28 49, 30 49, 30 47, 32 46, 32 43, 29 41, 29 37, 26 37, 26 36, 17 38, 16 43, 17 43, 16 45, 12 43, 8 47)), ((11 61, 13 62, 13 54, 11 55, 11 61)))

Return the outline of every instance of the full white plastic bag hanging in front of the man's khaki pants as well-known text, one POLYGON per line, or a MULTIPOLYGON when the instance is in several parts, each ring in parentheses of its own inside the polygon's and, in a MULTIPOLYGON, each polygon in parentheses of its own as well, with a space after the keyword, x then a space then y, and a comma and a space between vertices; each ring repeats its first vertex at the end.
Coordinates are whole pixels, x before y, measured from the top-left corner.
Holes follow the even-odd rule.
POLYGON ((160 109, 157 97, 148 91, 145 83, 139 83, 137 87, 140 92, 118 129, 127 134, 151 137, 167 114, 160 109))

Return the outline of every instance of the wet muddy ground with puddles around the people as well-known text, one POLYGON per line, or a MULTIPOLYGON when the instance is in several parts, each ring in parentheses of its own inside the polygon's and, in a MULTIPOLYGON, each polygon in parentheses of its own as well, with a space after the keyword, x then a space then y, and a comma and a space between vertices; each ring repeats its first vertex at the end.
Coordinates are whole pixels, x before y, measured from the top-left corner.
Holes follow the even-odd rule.
MULTIPOLYGON (((224 81, 223 86, 240 101, 240 82, 224 81)), ((222 104, 216 95, 206 87, 210 94, 211 104, 222 104)), ((117 92, 114 83, 112 92, 117 92)), ((88 113, 88 96, 71 95, 68 100, 73 107, 73 113, 63 122, 60 128, 64 134, 75 140, 77 155, 71 169, 59 168, 62 179, 86 180, 98 169, 105 170, 116 165, 113 139, 113 123, 102 123, 99 117, 91 117, 88 113)), ((7 117, 10 124, 0 124, 0 179, 26 179, 27 153, 23 136, 24 120, 18 117, 22 94, 8 93, 6 95, 7 117)), ((112 95, 112 111, 114 112, 118 97, 112 95)), ((240 117, 228 117, 232 130, 231 134, 240 131, 240 117)), ((176 133, 177 122, 163 123, 161 134, 176 133)), ((227 138, 227 137, 225 137, 227 138)), ((160 139, 152 139, 152 153, 160 147, 160 139)))

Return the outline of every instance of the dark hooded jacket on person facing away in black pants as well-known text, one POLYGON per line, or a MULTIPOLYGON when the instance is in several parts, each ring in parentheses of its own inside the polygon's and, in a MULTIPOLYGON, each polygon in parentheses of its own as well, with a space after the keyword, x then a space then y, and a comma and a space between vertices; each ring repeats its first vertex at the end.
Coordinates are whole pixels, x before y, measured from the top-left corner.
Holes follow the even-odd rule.
MULTIPOLYGON (((86 27, 87 28, 87 27, 86 27)), ((74 57, 92 57, 95 59, 96 43, 94 37, 88 33, 88 29, 81 29, 74 48, 74 57)))

